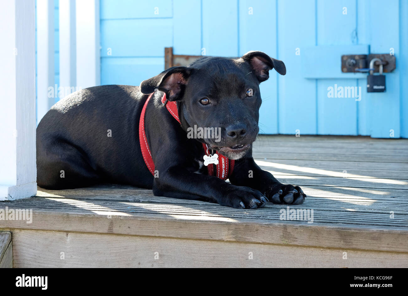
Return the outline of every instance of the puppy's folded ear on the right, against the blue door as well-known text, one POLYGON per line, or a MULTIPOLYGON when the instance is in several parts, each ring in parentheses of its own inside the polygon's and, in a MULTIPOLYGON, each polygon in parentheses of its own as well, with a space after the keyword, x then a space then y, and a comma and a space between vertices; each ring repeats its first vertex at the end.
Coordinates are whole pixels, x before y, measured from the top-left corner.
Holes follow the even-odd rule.
POLYGON ((248 51, 242 56, 242 59, 251 65, 252 71, 259 82, 267 80, 269 70, 273 68, 281 75, 286 74, 286 67, 282 61, 275 60, 262 51, 248 51))

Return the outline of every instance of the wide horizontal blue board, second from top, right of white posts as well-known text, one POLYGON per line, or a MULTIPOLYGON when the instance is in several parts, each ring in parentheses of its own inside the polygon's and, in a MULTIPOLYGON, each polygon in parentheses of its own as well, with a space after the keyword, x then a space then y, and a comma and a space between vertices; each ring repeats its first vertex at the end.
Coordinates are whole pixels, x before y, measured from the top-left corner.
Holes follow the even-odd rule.
POLYGON ((100 30, 101 57, 164 57, 173 45, 171 19, 102 20, 100 30))

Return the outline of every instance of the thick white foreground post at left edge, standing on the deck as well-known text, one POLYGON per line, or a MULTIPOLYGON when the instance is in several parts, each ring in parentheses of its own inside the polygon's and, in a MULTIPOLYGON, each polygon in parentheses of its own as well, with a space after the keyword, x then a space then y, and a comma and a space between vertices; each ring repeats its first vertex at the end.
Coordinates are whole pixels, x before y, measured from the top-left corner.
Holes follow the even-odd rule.
POLYGON ((34 1, 2 1, 0 28, 0 200, 15 200, 37 193, 34 1))

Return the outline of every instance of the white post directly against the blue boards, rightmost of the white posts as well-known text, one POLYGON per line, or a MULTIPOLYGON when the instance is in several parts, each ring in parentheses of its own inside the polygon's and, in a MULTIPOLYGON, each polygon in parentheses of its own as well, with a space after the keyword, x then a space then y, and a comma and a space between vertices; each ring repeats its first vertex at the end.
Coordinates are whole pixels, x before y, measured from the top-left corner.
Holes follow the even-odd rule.
POLYGON ((100 85, 99 0, 76 1, 77 85, 100 85))

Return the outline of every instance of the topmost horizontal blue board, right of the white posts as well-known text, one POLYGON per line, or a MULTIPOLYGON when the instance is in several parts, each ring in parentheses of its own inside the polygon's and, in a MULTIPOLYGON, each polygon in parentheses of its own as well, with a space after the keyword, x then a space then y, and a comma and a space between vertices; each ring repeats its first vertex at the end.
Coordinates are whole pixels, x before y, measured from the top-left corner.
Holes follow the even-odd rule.
POLYGON ((100 18, 171 18, 172 3, 168 0, 101 0, 100 18))

